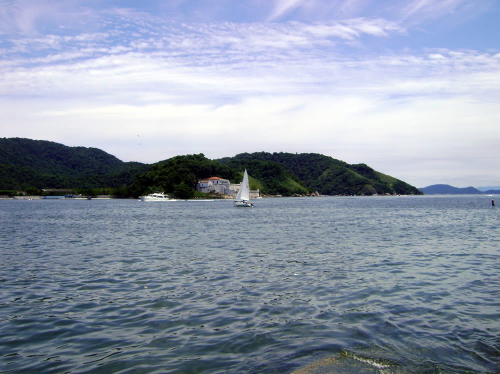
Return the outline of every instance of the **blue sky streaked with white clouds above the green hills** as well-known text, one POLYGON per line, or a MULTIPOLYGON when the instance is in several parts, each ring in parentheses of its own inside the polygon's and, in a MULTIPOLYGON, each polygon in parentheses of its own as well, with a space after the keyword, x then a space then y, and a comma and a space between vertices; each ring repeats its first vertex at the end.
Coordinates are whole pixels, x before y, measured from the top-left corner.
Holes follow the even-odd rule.
POLYGON ((500 185, 500 1, 0 0, 0 136, 500 185))

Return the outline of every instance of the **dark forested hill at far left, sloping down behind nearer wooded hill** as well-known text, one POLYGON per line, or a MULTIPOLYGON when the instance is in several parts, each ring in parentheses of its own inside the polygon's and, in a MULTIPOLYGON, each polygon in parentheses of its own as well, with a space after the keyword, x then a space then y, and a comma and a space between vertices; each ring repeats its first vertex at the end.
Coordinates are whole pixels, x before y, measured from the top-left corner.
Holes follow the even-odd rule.
POLYGON ((0 189, 117 187, 149 168, 97 148, 0 138, 0 189))

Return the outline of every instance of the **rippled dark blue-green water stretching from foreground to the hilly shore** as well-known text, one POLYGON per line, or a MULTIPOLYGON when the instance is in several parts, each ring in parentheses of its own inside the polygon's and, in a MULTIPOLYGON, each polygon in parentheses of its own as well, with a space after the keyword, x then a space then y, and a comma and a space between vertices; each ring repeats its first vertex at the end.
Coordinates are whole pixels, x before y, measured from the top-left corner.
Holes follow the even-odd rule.
POLYGON ((490 199, 0 200, 0 372, 500 372, 490 199))

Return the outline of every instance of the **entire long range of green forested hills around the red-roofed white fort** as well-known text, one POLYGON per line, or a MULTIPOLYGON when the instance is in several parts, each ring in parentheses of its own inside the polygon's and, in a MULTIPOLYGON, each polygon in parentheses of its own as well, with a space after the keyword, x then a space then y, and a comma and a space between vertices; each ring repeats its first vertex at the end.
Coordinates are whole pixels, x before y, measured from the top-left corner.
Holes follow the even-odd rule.
POLYGON ((213 160, 199 153, 145 164, 123 162, 98 148, 0 138, 0 195, 3 196, 70 191, 126 198, 164 191, 178 198, 207 197, 210 194, 195 189, 200 179, 217 176, 239 183, 245 168, 250 189, 258 189, 263 195, 423 193, 364 163, 348 164, 318 153, 254 152, 213 160))

